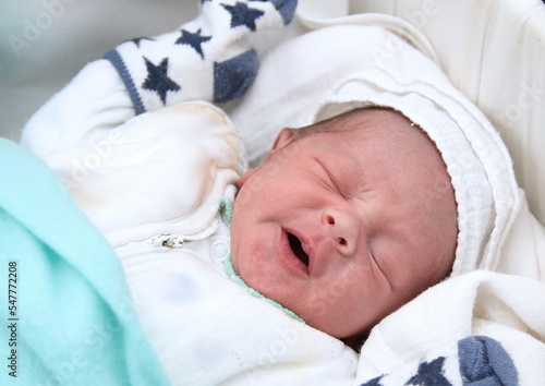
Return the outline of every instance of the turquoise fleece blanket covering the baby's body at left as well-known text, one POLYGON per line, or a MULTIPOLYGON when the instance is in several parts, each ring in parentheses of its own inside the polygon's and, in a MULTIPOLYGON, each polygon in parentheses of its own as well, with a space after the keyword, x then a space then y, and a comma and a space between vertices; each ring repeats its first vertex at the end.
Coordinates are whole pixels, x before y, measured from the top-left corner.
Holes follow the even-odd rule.
POLYGON ((48 167, 0 138, 0 384, 169 384, 121 265, 48 167))

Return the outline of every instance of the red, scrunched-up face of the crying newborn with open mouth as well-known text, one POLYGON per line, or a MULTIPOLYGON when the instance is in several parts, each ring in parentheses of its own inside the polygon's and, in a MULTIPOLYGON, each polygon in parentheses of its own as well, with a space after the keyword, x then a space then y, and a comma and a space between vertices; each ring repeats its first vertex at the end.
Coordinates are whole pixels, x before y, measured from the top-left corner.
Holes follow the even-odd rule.
POLYGON ((392 111, 353 120, 364 129, 349 135, 283 130, 241 178, 231 225, 244 281, 338 338, 448 275, 458 232, 450 179, 424 134, 392 111))

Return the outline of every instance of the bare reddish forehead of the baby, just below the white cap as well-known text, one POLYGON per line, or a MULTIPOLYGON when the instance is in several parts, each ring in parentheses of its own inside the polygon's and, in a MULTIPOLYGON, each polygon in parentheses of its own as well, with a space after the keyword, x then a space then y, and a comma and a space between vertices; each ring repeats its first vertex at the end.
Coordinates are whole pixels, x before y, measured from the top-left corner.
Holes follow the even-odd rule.
POLYGON ((327 154, 338 158, 337 169, 363 170, 368 178, 408 180, 408 184, 448 174, 435 143, 419 125, 391 109, 349 111, 303 128, 302 134, 311 141, 301 145, 330 150, 327 154))

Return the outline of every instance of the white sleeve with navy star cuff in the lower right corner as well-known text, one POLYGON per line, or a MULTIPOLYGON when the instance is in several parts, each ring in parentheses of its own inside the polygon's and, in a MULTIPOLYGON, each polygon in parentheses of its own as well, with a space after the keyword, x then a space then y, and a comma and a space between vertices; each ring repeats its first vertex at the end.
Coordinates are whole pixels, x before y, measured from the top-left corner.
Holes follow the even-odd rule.
POLYGON ((544 291, 542 281, 516 275, 474 272, 449 279, 375 327, 361 351, 356 384, 384 376, 382 385, 401 385, 443 374, 452 385, 542 385, 544 291), (488 350, 487 339, 471 340, 480 336, 499 342, 504 353, 488 350), (426 369, 434 361, 440 365, 426 369))

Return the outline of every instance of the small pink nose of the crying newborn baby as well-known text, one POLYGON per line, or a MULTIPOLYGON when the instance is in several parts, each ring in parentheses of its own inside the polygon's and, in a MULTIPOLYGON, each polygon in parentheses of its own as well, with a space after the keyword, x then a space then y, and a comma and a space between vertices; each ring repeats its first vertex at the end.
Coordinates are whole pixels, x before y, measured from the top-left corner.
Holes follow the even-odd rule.
POLYGON ((360 221, 354 213, 343 209, 327 208, 323 222, 328 228, 335 249, 343 256, 354 254, 360 236, 360 221))

